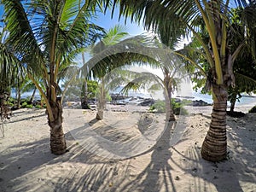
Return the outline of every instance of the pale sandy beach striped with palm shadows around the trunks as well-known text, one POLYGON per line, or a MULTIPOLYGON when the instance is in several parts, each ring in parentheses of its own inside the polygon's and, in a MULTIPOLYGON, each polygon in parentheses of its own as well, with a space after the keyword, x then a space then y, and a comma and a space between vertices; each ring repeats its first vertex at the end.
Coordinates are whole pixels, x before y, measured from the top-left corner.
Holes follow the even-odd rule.
POLYGON ((0 138, 0 191, 256 192, 255 113, 227 118, 228 160, 212 163, 200 153, 211 106, 170 125, 163 114, 126 109, 112 106, 102 121, 96 111, 65 109, 60 156, 49 151, 45 110, 15 111, 0 138))

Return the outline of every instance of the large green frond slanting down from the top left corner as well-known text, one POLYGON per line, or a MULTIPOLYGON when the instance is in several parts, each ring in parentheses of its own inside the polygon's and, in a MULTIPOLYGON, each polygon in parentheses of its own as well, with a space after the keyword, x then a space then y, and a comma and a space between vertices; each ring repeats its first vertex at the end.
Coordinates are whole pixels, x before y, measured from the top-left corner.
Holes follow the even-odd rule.
MULTIPOLYGON (((12 44, 15 55, 34 73, 42 73, 44 55, 37 41, 38 28, 33 31, 26 10, 20 1, 2 1, 5 22, 9 32, 8 44, 12 44), (28 59, 29 58, 29 59, 28 59), (36 64, 36 65, 35 65, 36 64)), ((44 66, 43 66, 44 67, 44 66)))

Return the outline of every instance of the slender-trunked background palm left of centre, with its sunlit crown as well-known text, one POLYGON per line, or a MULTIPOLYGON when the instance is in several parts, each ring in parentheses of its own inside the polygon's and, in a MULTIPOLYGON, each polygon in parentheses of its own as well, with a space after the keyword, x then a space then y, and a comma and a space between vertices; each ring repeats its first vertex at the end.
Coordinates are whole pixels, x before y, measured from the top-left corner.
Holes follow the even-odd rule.
POLYGON ((114 68, 132 65, 134 63, 156 63, 153 54, 147 54, 146 51, 141 53, 138 49, 140 47, 141 49, 149 50, 152 44, 148 44, 148 37, 137 36, 125 38, 127 36, 128 33, 125 32, 123 26, 113 26, 113 28, 106 32, 105 37, 100 42, 92 46, 92 58, 82 67, 82 71, 84 70, 85 74, 91 71, 100 80, 96 119, 103 119, 103 111, 108 93, 105 76, 108 73, 114 68))

